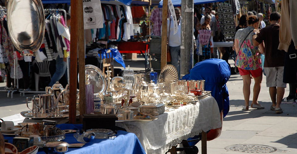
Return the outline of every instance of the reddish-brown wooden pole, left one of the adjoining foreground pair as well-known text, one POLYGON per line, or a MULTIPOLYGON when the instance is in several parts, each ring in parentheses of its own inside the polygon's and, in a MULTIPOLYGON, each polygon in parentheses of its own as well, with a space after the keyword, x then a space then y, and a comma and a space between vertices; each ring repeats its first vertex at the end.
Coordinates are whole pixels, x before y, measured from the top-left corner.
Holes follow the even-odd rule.
POLYGON ((71 21, 70 22, 70 67, 69 69, 69 123, 75 124, 76 123, 76 89, 77 89, 77 36, 78 36, 78 29, 77 29, 77 14, 78 12, 78 1, 81 0, 72 0, 71 1, 71 21))

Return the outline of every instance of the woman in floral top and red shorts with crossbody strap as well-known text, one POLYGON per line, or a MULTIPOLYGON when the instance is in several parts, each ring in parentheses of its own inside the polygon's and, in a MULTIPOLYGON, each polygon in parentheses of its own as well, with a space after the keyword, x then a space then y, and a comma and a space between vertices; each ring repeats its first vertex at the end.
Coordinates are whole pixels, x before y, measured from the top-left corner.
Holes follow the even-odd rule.
POLYGON ((254 77, 255 80, 251 108, 264 108, 258 103, 258 96, 260 93, 262 81, 262 68, 260 61, 261 57, 258 52, 258 47, 253 46, 252 44, 253 31, 254 29, 258 29, 258 27, 259 19, 257 16, 252 15, 248 17, 248 27, 245 29, 239 29, 235 34, 234 45, 237 54, 237 57, 235 59, 235 66, 238 67, 239 74, 242 76, 242 80, 244 82, 244 110, 248 110, 249 108, 251 76, 254 77))

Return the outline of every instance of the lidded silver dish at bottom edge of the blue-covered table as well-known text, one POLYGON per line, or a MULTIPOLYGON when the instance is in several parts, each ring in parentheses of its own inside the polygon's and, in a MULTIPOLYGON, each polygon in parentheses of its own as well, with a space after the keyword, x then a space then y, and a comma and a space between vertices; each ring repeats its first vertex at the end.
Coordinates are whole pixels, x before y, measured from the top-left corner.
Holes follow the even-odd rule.
POLYGON ((68 151, 69 144, 67 142, 55 141, 48 142, 43 145, 45 153, 64 153, 68 151))

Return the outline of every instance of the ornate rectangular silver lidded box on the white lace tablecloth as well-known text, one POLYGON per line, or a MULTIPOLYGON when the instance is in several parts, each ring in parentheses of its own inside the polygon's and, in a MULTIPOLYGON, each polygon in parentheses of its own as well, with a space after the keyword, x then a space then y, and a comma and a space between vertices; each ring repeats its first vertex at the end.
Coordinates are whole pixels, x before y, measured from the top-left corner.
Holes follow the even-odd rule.
POLYGON ((147 103, 139 106, 139 112, 157 116, 165 112, 165 105, 163 103, 147 103))

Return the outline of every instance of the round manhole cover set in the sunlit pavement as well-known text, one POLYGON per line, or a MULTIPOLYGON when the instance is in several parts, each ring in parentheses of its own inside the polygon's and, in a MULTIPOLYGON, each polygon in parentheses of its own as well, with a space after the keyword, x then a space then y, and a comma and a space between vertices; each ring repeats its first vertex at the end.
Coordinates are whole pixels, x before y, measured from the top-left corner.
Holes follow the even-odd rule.
POLYGON ((235 144, 225 147, 226 150, 244 153, 270 153, 275 152, 275 147, 260 144, 235 144))

